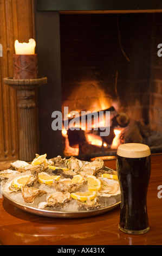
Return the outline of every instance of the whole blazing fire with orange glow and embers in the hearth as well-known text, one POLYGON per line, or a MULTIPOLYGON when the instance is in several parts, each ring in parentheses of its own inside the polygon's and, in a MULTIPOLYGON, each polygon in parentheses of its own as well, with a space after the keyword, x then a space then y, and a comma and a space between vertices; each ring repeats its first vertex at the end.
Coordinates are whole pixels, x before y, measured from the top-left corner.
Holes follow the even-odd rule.
MULTIPOLYGON (((118 148, 118 146, 122 143, 121 135, 124 134, 124 131, 120 129, 119 126, 116 126, 116 125, 111 126, 111 128, 118 127, 119 129, 114 129, 114 134, 111 130, 111 133, 109 135, 110 137, 107 139, 106 137, 102 138, 101 136, 96 135, 99 133, 95 133, 95 130, 98 130, 98 129, 101 130, 102 127, 108 127, 107 125, 108 118, 105 112, 111 106, 114 106, 114 102, 112 98, 109 95, 107 95, 105 90, 103 90, 96 81, 90 81, 90 82, 84 81, 84 82, 81 82, 79 86, 74 88, 72 95, 70 95, 69 99, 65 100, 62 105, 62 113, 64 114, 64 119, 66 120, 69 119, 68 129, 70 130, 72 127, 79 127, 79 129, 77 130, 78 132, 77 131, 75 132, 75 129, 74 129, 74 136, 72 136, 72 132, 69 133, 66 130, 67 128, 65 129, 63 127, 62 129, 64 154, 66 156, 70 156, 70 155, 77 156, 79 153, 82 154, 82 152, 83 154, 91 154, 90 150, 93 151, 93 148, 94 150, 98 150, 98 148, 95 148, 95 146, 99 147, 99 151, 102 151, 102 153, 103 151, 106 153, 106 152, 109 152, 110 149, 116 150, 118 148), (75 101, 70 99, 75 99, 75 101), (68 106, 67 113, 66 111, 64 111, 64 106, 68 106), (75 108, 75 111, 74 111, 74 108, 75 108), (92 123, 91 123, 92 129, 88 129, 89 128, 88 126, 89 123, 87 121, 88 117, 82 118, 82 115, 85 114, 85 112, 86 112, 85 115, 88 116, 87 112, 99 113, 100 111, 103 111, 103 118, 102 117, 100 118, 100 115, 98 118, 96 117, 95 114, 92 115, 92 123), (80 115, 79 121, 78 119, 73 121, 75 117, 78 117, 76 115, 76 112, 80 115), (92 133, 90 133, 90 130, 92 130, 92 133), (78 141, 77 141, 77 138, 78 138, 78 141), (103 139, 106 142, 103 141, 103 139), (89 144, 89 147, 88 147, 88 144, 89 144), (87 151, 86 151, 86 148, 87 148, 87 151)), ((118 108, 117 103, 115 107, 118 108)), ((113 111, 111 112, 109 119, 112 120, 115 114, 116 114, 116 111, 114 109, 114 112, 113 111)))

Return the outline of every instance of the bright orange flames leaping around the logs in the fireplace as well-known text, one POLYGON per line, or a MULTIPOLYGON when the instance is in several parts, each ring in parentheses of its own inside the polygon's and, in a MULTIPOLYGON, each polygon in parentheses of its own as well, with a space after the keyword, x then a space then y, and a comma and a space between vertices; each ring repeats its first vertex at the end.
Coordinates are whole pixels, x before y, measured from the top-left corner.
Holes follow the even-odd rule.
MULTIPOLYGON (((114 101, 112 98, 107 95, 104 89, 102 89, 96 81, 83 81, 78 84, 77 87, 73 89, 72 95, 69 95, 66 100, 64 100, 62 105, 62 113, 64 114, 64 106, 68 106, 68 113, 66 114, 67 119, 73 119, 75 112, 81 114, 82 111, 89 112, 99 112, 108 109, 109 107, 114 105, 114 101), (72 100, 73 99, 73 100, 72 100), (75 99, 75 101, 74 101, 75 99), (74 111, 75 109, 75 111, 74 111)), ((115 108, 118 107, 117 105, 115 108)), ((82 120, 82 119, 80 119, 82 120)), ((103 115, 102 118, 98 118, 98 121, 95 118, 92 118, 92 130, 97 130, 96 128, 106 127, 106 118, 103 115)), ((114 134, 115 137, 111 145, 103 142, 102 137, 95 135, 94 133, 90 133, 90 129, 87 127, 87 122, 70 122, 69 129, 71 127, 79 127, 83 131, 85 131, 86 140, 89 145, 95 145, 102 149, 105 148, 105 151, 111 147, 112 149, 117 149, 121 144, 121 129, 115 129, 114 134)), ((64 141, 64 155, 77 156, 79 154, 79 148, 72 148, 69 145, 68 141, 68 132, 66 129, 62 129, 62 136, 64 141)), ((76 145, 75 145, 76 146, 76 145)))

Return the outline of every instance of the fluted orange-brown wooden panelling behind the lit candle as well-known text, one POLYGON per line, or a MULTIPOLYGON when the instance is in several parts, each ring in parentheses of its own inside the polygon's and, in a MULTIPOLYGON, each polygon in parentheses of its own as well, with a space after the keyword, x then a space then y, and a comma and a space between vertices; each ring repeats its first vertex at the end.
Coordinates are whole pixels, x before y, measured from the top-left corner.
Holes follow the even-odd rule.
POLYGON ((34 0, 0 1, 0 161, 18 159, 18 113, 16 91, 3 84, 13 76, 14 42, 35 38, 34 0))

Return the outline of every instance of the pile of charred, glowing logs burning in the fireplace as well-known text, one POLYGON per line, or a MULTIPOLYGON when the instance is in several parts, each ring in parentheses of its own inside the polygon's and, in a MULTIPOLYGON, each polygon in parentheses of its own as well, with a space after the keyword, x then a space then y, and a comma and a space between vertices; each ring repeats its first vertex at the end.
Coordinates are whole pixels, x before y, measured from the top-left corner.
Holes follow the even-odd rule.
MULTIPOLYGON (((116 136, 116 133, 114 132, 115 129, 124 129, 122 127, 126 127, 129 124, 129 118, 125 113, 120 113, 118 114, 115 111, 114 107, 110 107, 108 109, 105 109, 103 111, 104 114, 109 111, 109 135, 104 136, 103 132, 106 130, 107 127, 103 124, 103 122, 97 123, 98 129, 96 129, 96 124, 95 121, 98 121, 98 118, 95 119, 94 115, 95 113, 100 113, 100 112, 95 112, 95 113, 89 113, 85 114, 84 118, 86 121, 88 121, 88 118, 92 119, 92 122, 94 127, 91 130, 88 130, 87 127, 79 127, 81 125, 81 115, 80 117, 75 118, 78 121, 76 121, 77 126, 69 126, 69 129, 66 131, 67 132, 67 137, 68 139, 68 144, 71 149, 77 149, 79 150, 79 155, 90 155, 90 154, 105 154, 106 151, 111 150, 111 146, 115 148, 115 145, 120 143, 120 135, 116 136), (77 128, 77 129, 76 129, 77 128), (114 139, 116 138, 116 141, 114 143, 114 139)), ((68 119, 68 124, 70 125, 70 121, 73 119, 68 119)), ((74 124, 74 122, 73 122, 74 124)), ((121 131, 119 131, 120 133, 121 131)), ((119 134, 118 133, 118 134, 119 134)), ((105 133, 106 134, 106 133, 105 133)), ((122 143, 122 142, 121 142, 122 143)))

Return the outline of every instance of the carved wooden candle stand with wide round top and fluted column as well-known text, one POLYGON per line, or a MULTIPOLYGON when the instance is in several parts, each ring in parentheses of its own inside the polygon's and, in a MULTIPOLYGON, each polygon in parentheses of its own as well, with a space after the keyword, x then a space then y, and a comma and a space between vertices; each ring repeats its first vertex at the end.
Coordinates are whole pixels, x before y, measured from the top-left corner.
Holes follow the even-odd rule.
POLYGON ((35 89, 47 83, 47 77, 37 79, 4 78, 8 84, 17 91, 17 107, 19 109, 19 159, 30 162, 38 152, 37 131, 34 101, 35 89))

